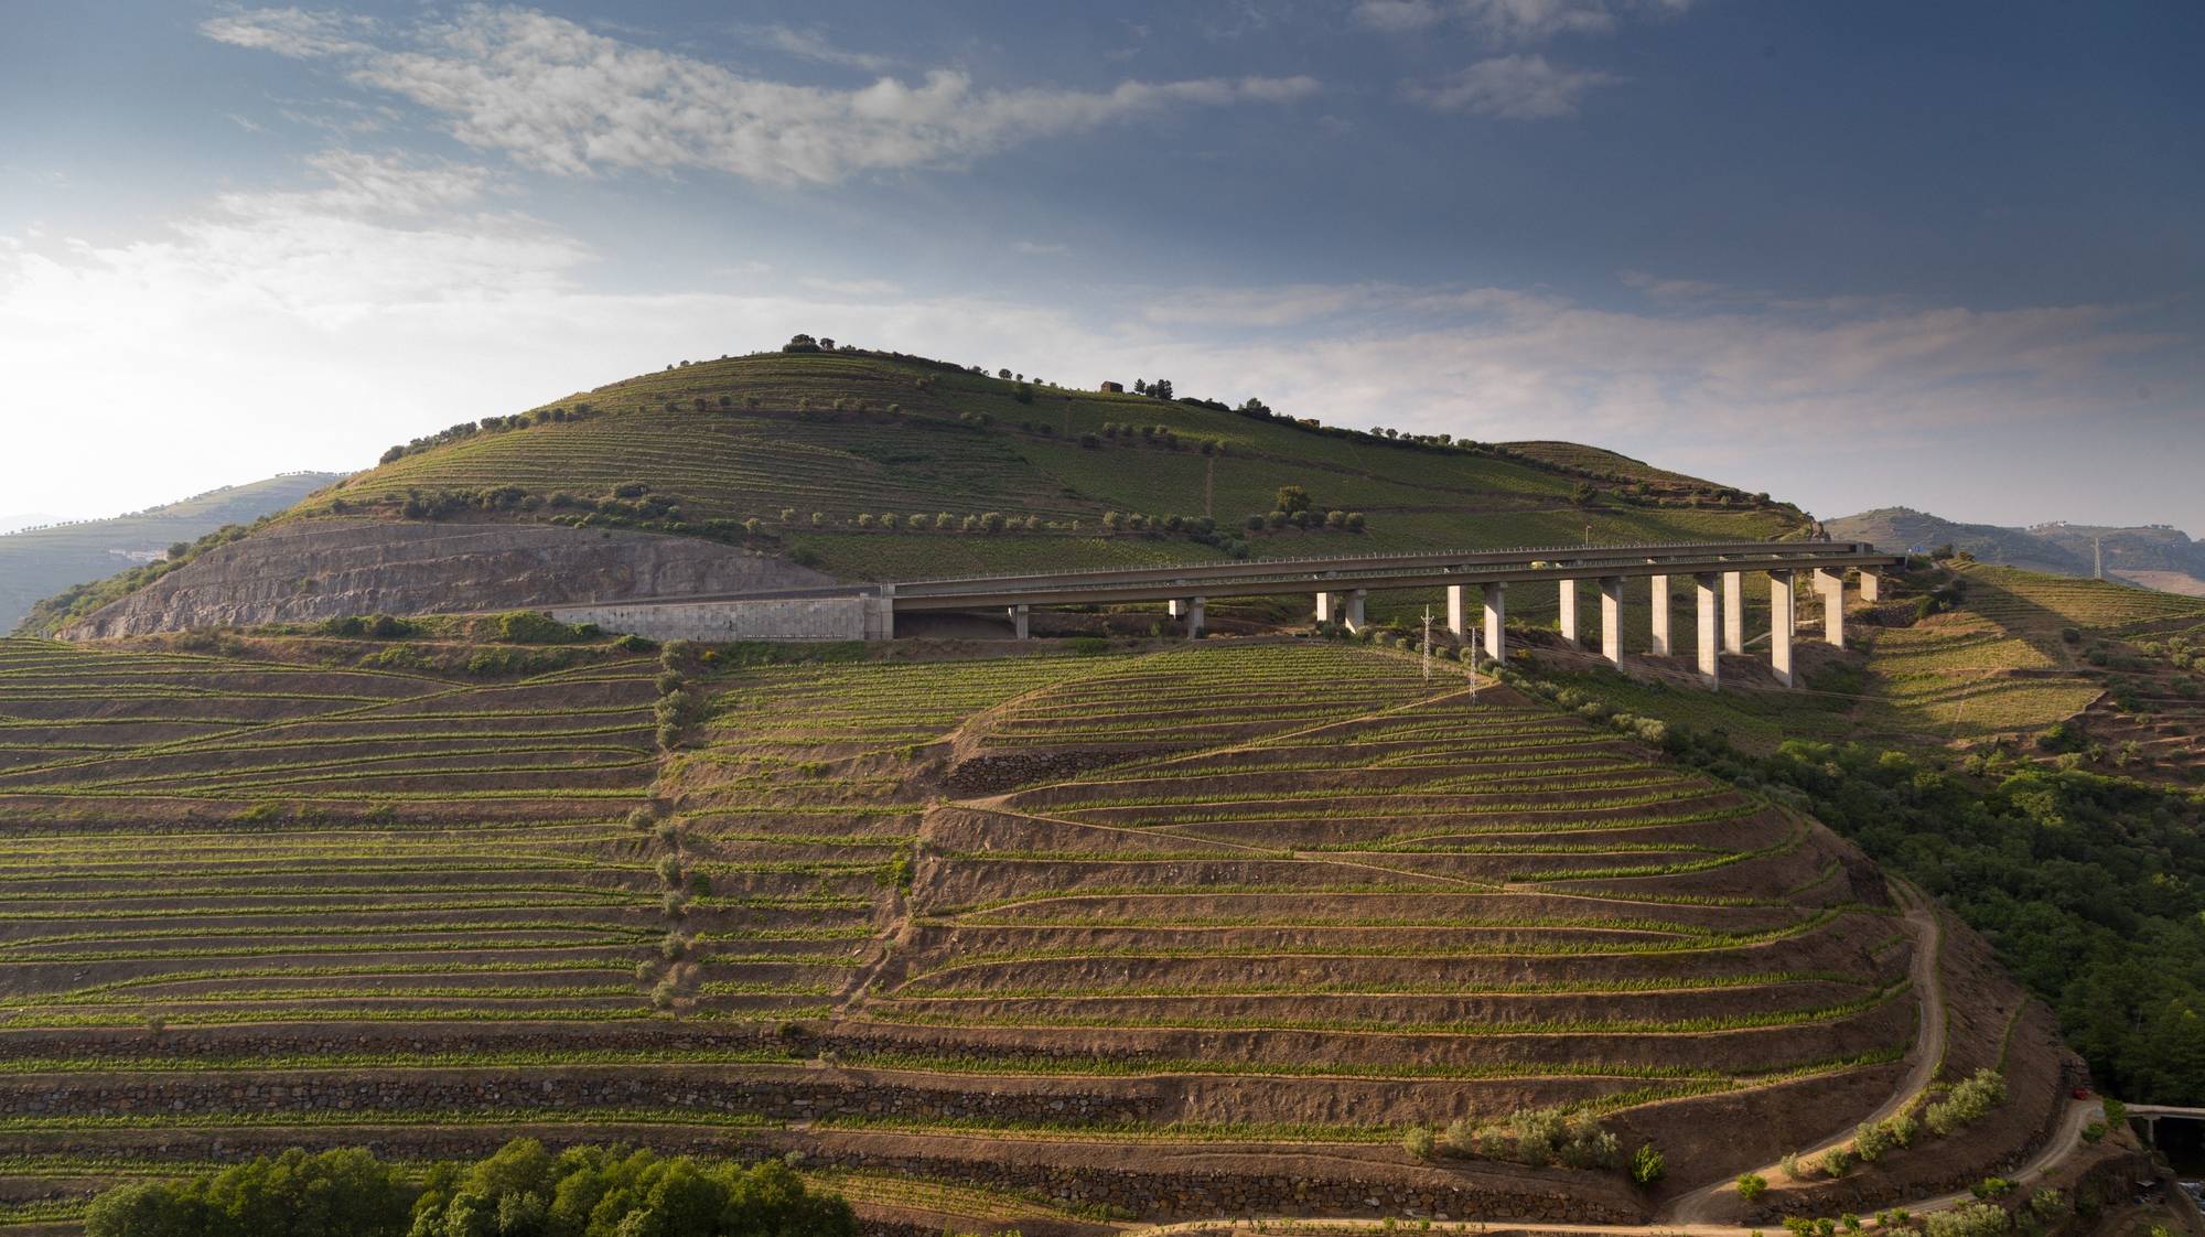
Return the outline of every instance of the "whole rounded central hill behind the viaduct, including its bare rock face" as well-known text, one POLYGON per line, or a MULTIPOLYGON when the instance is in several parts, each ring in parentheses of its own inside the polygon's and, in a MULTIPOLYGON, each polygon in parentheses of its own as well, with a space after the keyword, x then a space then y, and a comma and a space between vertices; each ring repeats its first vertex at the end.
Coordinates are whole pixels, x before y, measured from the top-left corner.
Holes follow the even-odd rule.
POLYGON ((42 631, 1806 527, 1764 494, 1594 448, 1341 430, 1255 399, 811 344, 395 445, 243 540, 51 609, 42 631))

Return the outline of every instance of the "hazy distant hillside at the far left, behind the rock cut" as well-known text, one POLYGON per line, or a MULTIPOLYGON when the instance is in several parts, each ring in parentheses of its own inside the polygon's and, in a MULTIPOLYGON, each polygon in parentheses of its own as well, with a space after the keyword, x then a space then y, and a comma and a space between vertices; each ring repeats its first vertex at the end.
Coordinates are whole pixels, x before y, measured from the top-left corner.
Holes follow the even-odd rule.
POLYGON ((13 631, 42 598, 161 558, 170 545, 198 540, 223 525, 282 512, 337 481, 340 472, 289 472, 225 485, 181 503, 73 525, 0 536, 0 631, 13 631))

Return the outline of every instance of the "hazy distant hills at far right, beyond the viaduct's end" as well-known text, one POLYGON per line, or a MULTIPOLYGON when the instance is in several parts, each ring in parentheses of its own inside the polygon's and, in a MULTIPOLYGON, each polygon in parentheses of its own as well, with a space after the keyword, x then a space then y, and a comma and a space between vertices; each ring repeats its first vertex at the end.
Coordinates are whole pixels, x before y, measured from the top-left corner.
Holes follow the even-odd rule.
POLYGON ((2168 593, 2205 595, 2205 542, 2194 542, 2168 525, 2110 527, 2059 520, 2013 529, 1960 525, 1912 507, 1881 507, 1830 520, 1828 529, 1841 540, 1872 540, 1921 553, 1949 545, 1980 562, 2053 576, 2095 576, 2097 553, 2104 549, 2106 576, 2168 593))

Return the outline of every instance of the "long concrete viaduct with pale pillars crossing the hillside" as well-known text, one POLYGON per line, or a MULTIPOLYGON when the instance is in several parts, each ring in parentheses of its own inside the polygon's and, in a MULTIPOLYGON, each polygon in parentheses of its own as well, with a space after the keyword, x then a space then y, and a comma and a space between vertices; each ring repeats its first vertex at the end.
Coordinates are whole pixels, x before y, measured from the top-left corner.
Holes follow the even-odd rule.
POLYGON ((1665 655, 1671 642, 1669 580, 1691 576, 1698 600, 1700 677, 1718 681, 1720 653, 1744 653, 1744 576, 1771 576, 1768 659, 1775 677, 1793 684, 1793 584, 1799 573, 1813 582, 1824 604, 1821 637, 1846 642, 1846 573, 1857 571, 1861 595, 1876 600, 1881 573, 1899 556, 1865 542, 1687 542, 1603 545, 1546 549, 1484 549, 1446 553, 1389 553, 1356 558, 1257 558, 1105 571, 1056 571, 1039 576, 970 576, 913 580, 862 589, 800 589, 785 593, 653 598, 553 606, 564 622, 595 622, 613 631, 637 631, 690 639, 891 639, 895 615, 926 611, 1001 611, 1017 637, 1028 635, 1034 606, 1164 602, 1186 620, 1188 637, 1202 631, 1204 606, 1213 598, 1270 598, 1312 593, 1319 622, 1360 631, 1363 604, 1374 589, 1446 589, 1446 626, 1455 639, 1484 642, 1486 657, 1508 659, 1508 587, 1555 587, 1561 598, 1561 637, 1581 642, 1577 587, 1599 582, 1601 655, 1623 661, 1623 580, 1647 578, 1654 593, 1652 650, 1665 655), (1473 622, 1473 611, 1477 620, 1473 622))

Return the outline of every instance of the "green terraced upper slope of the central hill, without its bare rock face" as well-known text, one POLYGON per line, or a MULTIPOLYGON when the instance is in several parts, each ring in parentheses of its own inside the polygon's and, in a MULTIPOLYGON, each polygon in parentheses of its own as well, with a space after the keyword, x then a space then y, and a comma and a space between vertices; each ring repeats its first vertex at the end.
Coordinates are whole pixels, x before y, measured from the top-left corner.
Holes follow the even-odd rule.
MULTIPOLYGON (((992 377, 858 355, 703 362, 558 401, 591 404, 602 412, 591 421, 490 432, 404 456, 300 514, 326 512, 329 498, 355 512, 395 514, 410 492, 501 485, 545 501, 556 494, 598 501, 615 485, 642 481, 653 494, 675 498, 684 520, 763 520, 767 545, 803 549, 849 578, 1217 558, 1219 549, 1180 536, 1102 536, 1100 518, 1109 509, 1211 516, 1237 531, 1248 514, 1272 507, 1281 485, 1305 487, 1319 509, 1363 512, 1369 529, 1266 531, 1250 538, 1257 556, 1552 545, 1581 540, 1585 525, 1594 540, 1777 536, 1797 523, 1788 509, 1724 503, 1713 487, 1693 498, 1698 483, 1674 481, 1656 485, 1645 505, 1610 494, 1601 509, 1588 512, 1570 503, 1581 476, 1504 454, 1316 434, 1140 395, 1039 388, 1032 404, 1021 404, 1014 392, 1014 384, 992 377), (732 406, 719 408, 721 397, 732 406), (708 410, 695 410, 697 399, 708 410), (752 399, 756 408, 747 408, 752 399), (679 408, 668 410, 668 401, 679 408), (836 401, 849 408, 836 412, 836 401), (900 415, 889 415, 889 406, 900 406, 900 415), (959 421, 979 412, 992 423, 959 421), (1021 430, 1021 421, 1034 430, 1021 430), (1125 439, 1078 445, 1080 434, 1098 434, 1107 421, 1169 426, 1177 445, 1120 445, 1125 439), (1224 456, 1202 454, 1200 441, 1222 441, 1224 456), (796 518, 783 523, 785 509, 796 518), (895 514, 902 523, 942 512, 957 520, 983 512, 1039 516, 1061 529, 986 538, 856 523, 860 514, 895 514)), ((545 505, 501 518, 553 514, 545 505)))

